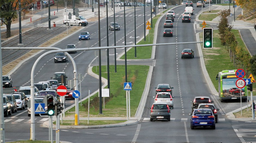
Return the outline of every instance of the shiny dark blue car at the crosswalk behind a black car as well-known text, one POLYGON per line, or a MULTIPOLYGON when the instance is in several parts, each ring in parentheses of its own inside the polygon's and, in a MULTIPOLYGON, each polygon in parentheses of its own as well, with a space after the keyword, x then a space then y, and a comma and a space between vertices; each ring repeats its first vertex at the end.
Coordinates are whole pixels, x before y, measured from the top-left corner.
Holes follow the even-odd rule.
POLYGON ((194 127, 211 127, 215 129, 215 118, 211 109, 195 109, 193 113, 189 113, 190 118, 190 128, 194 127))

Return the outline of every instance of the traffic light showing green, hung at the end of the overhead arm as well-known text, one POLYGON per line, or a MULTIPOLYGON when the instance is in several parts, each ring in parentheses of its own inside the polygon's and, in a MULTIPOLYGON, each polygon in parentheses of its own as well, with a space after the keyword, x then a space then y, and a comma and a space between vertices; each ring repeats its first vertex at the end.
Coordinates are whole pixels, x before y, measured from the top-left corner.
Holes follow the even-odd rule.
POLYGON ((203 48, 213 48, 213 28, 203 28, 203 48))

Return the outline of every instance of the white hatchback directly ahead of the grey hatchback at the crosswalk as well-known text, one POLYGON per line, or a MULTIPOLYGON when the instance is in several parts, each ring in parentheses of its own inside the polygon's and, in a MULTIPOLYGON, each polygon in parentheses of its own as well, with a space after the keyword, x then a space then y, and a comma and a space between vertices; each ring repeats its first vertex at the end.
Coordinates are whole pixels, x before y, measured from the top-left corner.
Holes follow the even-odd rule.
POLYGON ((159 102, 167 103, 169 107, 173 109, 174 96, 172 96, 170 92, 159 92, 157 93, 156 96, 153 96, 153 98, 155 98, 154 103, 159 103, 159 102))

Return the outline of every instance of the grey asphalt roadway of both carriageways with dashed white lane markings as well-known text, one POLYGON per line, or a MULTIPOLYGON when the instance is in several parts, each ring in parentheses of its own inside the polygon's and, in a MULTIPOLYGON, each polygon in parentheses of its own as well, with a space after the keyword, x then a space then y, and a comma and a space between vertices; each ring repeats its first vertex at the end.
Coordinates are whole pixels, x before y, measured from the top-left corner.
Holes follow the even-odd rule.
MULTIPOLYGON (((176 17, 175 17, 175 26, 172 28, 174 30, 173 37, 163 37, 162 30, 164 17, 160 20, 159 29, 157 33, 157 43, 172 43, 172 42, 190 42, 196 41, 196 34, 194 30, 194 21, 196 15, 191 17, 191 23, 181 23, 181 13, 183 13, 185 6, 180 6, 175 8, 176 17)), ((194 13, 197 14, 201 8, 194 7, 194 13)), ((148 14, 150 14, 150 9, 147 9, 148 14)), ((141 8, 138 8, 136 13, 138 17, 144 11, 141 8)), ((132 14, 132 9, 130 10, 132 14)), ((127 9, 127 15, 129 15, 129 10, 127 9)), ((148 16, 149 18, 149 16, 148 16)), ((146 18, 146 19, 148 19, 146 18)), ((111 20, 109 20, 110 22, 111 20)), ((127 16, 126 30, 127 34, 129 32, 133 35, 134 23, 133 17, 127 16)), ((120 25, 124 25, 123 17, 117 18, 117 22, 120 25)), ((136 25, 143 24, 144 19, 136 19, 136 25)), ((101 22, 101 28, 106 28, 105 19, 101 22), (105 27, 104 27, 105 26, 105 27)), ((141 25, 138 29, 136 35, 140 37, 143 36, 144 25, 141 25)), ((76 44, 77 47, 96 47, 97 46, 97 22, 92 23, 92 25, 85 27, 85 30, 92 34, 92 39, 88 41, 79 41, 78 42, 78 33, 75 33, 73 36, 69 37, 66 40, 63 40, 60 43, 57 43, 55 47, 63 48, 66 44, 76 44), (96 32, 96 33, 94 33, 96 32), (72 43, 74 42, 74 43, 72 43)), ((85 31, 81 30, 81 31, 85 31)), ((123 36, 120 36, 120 33, 123 34, 123 27, 121 27, 119 36, 117 36, 117 45, 122 45, 123 36)), ((102 38, 106 36, 105 32, 102 32, 102 38)), ((111 44, 114 43, 113 32, 109 32, 109 39, 111 44)), ((128 36, 129 37, 129 36, 128 36)), ((134 39, 133 39, 134 40, 134 39)), ((131 40, 132 41, 132 40, 131 40)), ((127 40, 129 42, 129 40, 127 40)), ((106 45, 106 40, 103 38, 101 42, 102 46, 106 45), (105 42, 104 42, 105 41, 105 42)), ((118 49, 117 53, 120 54, 123 52, 123 49, 118 49)), ((230 121, 225 118, 223 112, 219 112, 219 122, 216 124, 216 129, 208 128, 199 128, 195 130, 190 129, 190 122, 188 113, 191 112, 191 103, 194 96, 210 96, 213 97, 206 85, 205 78, 203 77, 201 64, 198 55, 198 49, 196 44, 183 44, 183 45, 172 45, 172 46, 157 46, 156 47, 156 57, 155 57, 155 67, 153 70, 153 77, 151 79, 150 92, 148 94, 147 102, 142 116, 142 121, 136 125, 123 126, 116 128, 99 128, 99 129, 61 129, 60 140, 69 141, 69 142, 173 142, 173 143, 196 143, 196 142, 253 142, 254 124, 250 122, 241 122, 241 121, 230 121), (181 59, 181 51, 184 48, 191 48, 195 51, 195 56, 193 59, 181 59), (149 109, 153 103, 153 96, 155 95, 154 87, 160 83, 168 83, 173 89, 174 98, 174 109, 171 110, 171 121, 149 121, 149 109)), ((110 50, 110 54, 114 54, 113 50, 110 50)), ((73 77, 73 69, 71 62, 68 63, 54 63, 53 55, 46 56, 36 67, 35 82, 48 80, 54 72, 65 71, 68 79, 73 77)), ((88 93, 90 88, 92 91, 98 89, 98 80, 89 76, 87 74, 88 65, 94 59, 94 51, 80 51, 76 54, 72 54, 74 60, 78 67, 78 72, 82 75, 85 75, 82 82, 82 93, 88 93), (90 82, 87 82, 90 81, 90 82)), ((20 85, 29 85, 30 76, 28 72, 31 69, 31 66, 35 59, 38 56, 26 61, 16 72, 11 76, 15 79, 16 86, 20 85), (17 80, 19 79, 19 80, 17 80)), ((114 56, 110 56, 111 64, 114 62, 114 56)), ((102 58, 102 63, 105 63, 105 58, 102 58)), ((153 61, 152 61, 153 62, 153 61)), ((120 62, 121 64, 122 62, 120 62)), ((132 62, 131 62, 132 63, 132 62)), ((139 62, 137 62, 139 63, 139 62)), ((123 63, 124 64, 124 63, 123 63)), ((143 63, 144 64, 144 63, 143 63)), ((147 62, 148 65, 152 63, 147 62)), ((95 61, 92 65, 96 65, 95 61)), ((83 94, 82 97, 86 97, 86 94, 83 94)), ((214 98, 212 100, 216 101, 214 98)), ((218 100, 218 99, 217 99, 218 100)), ((71 105, 74 100, 67 100, 66 105, 71 105)), ((219 106, 215 102, 216 106, 219 106)), ((224 104, 224 103, 223 103, 224 104)), ((19 113, 21 111, 18 111, 19 113)), ((17 113, 16 113, 17 114, 17 113)), ((24 121, 29 120, 26 115, 26 112, 21 113, 18 116, 12 116, 14 118, 8 117, 6 119, 12 119, 11 121, 5 124, 5 138, 7 141, 16 141, 18 139, 29 139, 29 123, 24 123, 24 121), (22 122, 17 122, 19 126, 23 129, 23 134, 20 134, 19 130, 16 130, 17 125, 12 124, 13 121, 17 119, 24 119, 22 122), (16 135, 16 138, 13 138, 13 135, 16 135)), ((48 139, 48 129, 38 127, 44 117, 36 117, 36 139, 37 140, 47 140, 48 139)), ((53 137, 55 134, 53 134, 53 137)))

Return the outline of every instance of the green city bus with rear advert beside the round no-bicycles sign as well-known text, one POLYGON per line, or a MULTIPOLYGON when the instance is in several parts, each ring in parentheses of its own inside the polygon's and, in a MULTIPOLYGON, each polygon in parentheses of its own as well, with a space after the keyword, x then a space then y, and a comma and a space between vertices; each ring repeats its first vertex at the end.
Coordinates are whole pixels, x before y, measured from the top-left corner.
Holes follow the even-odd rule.
MULTIPOLYGON (((224 100, 240 99, 240 89, 236 87, 236 70, 223 70, 216 76, 219 98, 224 100)), ((242 99, 247 99, 247 86, 242 88, 242 99)))

